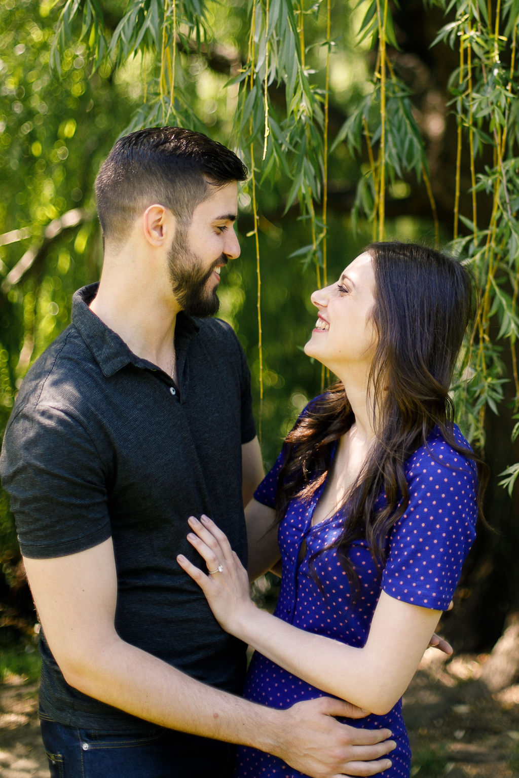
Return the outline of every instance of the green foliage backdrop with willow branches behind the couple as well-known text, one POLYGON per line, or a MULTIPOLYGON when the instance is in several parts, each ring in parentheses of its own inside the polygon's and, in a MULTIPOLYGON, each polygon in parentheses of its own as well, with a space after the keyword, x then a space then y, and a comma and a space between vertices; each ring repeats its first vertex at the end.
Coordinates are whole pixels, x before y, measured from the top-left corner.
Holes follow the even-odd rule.
MULTIPOLYGON (((454 247, 471 258, 482 289, 489 289, 484 321, 472 339, 472 346, 482 347, 472 355, 476 380, 465 429, 480 442, 486 433, 496 473, 509 467, 514 478, 519 457, 509 419, 517 404, 510 363, 517 350, 517 79, 509 87, 506 75, 514 62, 517 23, 510 25, 519 16, 517 0, 503 10, 508 39, 496 37, 495 46, 494 26, 480 12, 484 4, 468 8, 464 0, 445 19, 444 2, 429 7, 402 0, 387 11, 382 36, 377 8, 384 5, 3 0, 0 429, 26 370, 68 323, 72 293, 99 277, 93 180, 102 159, 130 128, 178 123, 237 145, 251 171, 240 193, 242 254, 223 273, 220 315, 247 352, 267 467, 300 409, 329 380, 302 353, 315 321, 310 293, 325 272, 331 282, 384 230, 387 238, 430 244, 435 233, 442 243, 454 234, 454 247), (468 41, 474 63, 481 53, 472 81, 466 68, 456 69, 458 51, 451 46, 460 41, 465 61, 468 41), (458 127, 465 133, 461 163, 458 127), (500 159, 493 153, 498 147, 500 159), (461 215, 454 219, 460 177, 461 215), (491 424, 487 407, 496 412, 491 424)), ((458 385, 461 401, 467 385, 458 385)), ((477 551, 465 587, 464 602, 475 603, 466 630, 472 646, 495 640, 519 588, 510 564, 517 528, 510 499, 495 479, 489 518, 504 539, 483 536, 485 548, 477 551), (470 598, 482 581, 486 612, 496 614, 486 636, 481 600, 470 598)), ((0 492, 0 603, 10 604, 0 612, 0 625, 16 619, 19 586, 16 532, 0 492)))

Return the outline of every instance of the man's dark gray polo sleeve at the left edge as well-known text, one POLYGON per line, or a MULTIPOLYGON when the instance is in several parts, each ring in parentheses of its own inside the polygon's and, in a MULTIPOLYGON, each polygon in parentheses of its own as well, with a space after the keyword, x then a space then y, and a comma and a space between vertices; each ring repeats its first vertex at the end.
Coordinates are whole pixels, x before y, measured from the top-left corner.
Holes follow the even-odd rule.
POLYGON ((68 413, 47 405, 20 409, 6 430, 2 481, 23 555, 64 556, 110 537, 100 456, 68 413))

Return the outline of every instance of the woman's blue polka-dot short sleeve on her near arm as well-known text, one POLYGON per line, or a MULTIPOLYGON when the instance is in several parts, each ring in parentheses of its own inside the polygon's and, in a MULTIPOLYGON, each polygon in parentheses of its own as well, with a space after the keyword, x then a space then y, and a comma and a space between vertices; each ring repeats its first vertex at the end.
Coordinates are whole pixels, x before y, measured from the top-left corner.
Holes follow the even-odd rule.
POLYGON ((437 437, 409 460, 408 483, 409 505, 391 531, 382 589, 444 611, 475 538, 475 466, 437 437))

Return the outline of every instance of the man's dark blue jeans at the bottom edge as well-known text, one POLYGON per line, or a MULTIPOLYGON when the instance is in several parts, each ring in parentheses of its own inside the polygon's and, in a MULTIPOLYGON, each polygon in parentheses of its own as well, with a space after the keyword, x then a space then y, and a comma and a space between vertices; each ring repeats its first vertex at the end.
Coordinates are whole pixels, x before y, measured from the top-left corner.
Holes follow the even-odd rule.
POLYGON ((51 778, 230 778, 234 746, 163 727, 82 730, 42 719, 51 778))

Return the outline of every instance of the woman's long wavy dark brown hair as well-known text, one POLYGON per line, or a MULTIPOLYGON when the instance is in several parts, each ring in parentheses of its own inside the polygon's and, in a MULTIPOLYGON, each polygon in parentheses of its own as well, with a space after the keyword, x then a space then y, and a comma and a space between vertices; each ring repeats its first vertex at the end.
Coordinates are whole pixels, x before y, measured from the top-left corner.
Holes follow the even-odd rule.
MULTIPOLYGON (((377 349, 368 383, 377 403, 376 440, 341 506, 345 516, 342 533, 328 546, 337 548, 352 590, 357 592, 359 580, 348 558, 349 547, 352 541, 365 538, 379 569, 384 566, 387 534, 409 504, 405 463, 426 445, 435 426, 454 450, 476 462, 482 519, 482 494, 488 480, 481 459, 454 440, 454 405, 448 394, 472 315, 470 273, 461 262, 416 244, 378 243, 365 251, 372 258, 375 276, 370 315, 377 331, 377 349), (384 504, 377 506, 382 494, 384 504)), ((286 437, 278 482, 278 520, 290 499, 309 501, 321 486, 330 469, 334 443, 354 420, 341 382, 310 403, 286 437)))

